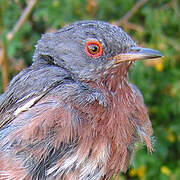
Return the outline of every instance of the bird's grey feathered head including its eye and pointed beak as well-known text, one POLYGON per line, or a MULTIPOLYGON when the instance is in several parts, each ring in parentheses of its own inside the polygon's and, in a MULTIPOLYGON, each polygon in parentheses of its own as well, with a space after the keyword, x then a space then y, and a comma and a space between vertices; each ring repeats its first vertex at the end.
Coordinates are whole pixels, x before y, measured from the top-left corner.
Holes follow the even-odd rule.
POLYGON ((133 61, 161 56, 158 51, 138 47, 120 27, 102 21, 79 21, 44 34, 36 46, 34 62, 43 58, 81 80, 92 81, 113 69, 128 70, 133 61))

